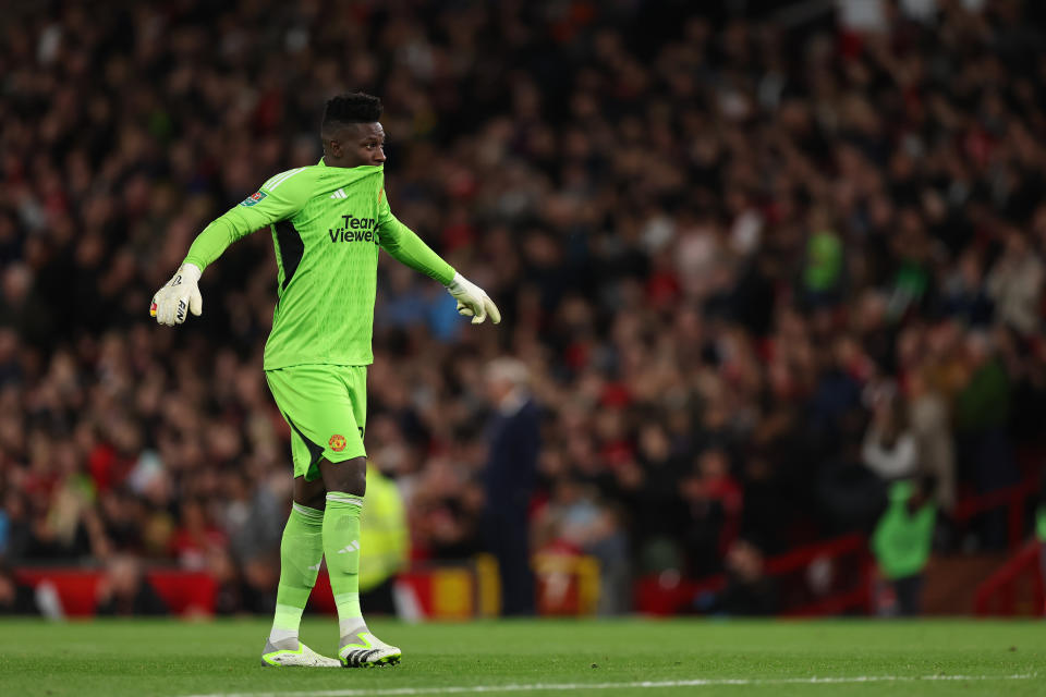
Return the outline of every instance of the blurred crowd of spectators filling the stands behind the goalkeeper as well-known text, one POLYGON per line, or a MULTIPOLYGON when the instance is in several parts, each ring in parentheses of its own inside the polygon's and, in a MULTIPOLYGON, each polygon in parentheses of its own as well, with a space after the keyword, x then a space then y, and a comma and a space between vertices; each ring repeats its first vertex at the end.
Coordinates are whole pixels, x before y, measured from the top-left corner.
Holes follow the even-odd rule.
POLYGON ((206 270, 203 317, 148 305, 211 219, 318 160, 348 88, 385 101, 392 210, 504 317, 382 258, 366 444, 415 558, 484 547, 506 355, 542 406, 532 547, 596 554, 619 598, 869 530, 900 478, 947 518, 1034 474, 1043 9, 839 4, 26 3, 0 40, 0 559, 208 568, 222 610, 267 609, 270 235, 206 270))

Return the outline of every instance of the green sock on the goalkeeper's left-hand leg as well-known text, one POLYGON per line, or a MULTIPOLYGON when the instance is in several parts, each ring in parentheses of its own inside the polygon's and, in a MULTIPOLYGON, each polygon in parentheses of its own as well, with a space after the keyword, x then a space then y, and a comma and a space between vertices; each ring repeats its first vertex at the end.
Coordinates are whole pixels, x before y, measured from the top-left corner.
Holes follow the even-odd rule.
POLYGON ((280 543, 280 586, 269 641, 278 649, 297 649, 297 629, 324 559, 324 512, 292 504, 280 543))

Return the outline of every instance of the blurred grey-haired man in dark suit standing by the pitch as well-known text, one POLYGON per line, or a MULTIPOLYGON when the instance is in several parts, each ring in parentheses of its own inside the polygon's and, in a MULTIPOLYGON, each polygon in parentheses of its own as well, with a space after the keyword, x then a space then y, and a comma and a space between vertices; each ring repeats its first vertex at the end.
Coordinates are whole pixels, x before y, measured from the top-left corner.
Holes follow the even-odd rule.
POLYGON ((487 366, 487 396, 494 407, 484 469, 487 550, 498 560, 502 613, 534 613, 534 576, 530 567, 527 506, 540 450, 539 408, 527 387, 527 370, 514 358, 487 366))

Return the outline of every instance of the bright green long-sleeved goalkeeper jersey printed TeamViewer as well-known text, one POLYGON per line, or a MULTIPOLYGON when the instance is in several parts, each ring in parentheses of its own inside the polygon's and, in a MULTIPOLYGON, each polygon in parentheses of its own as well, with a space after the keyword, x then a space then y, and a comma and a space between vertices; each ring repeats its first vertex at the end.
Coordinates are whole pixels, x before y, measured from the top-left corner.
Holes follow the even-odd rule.
POLYGON ((186 264, 205 269, 236 240, 271 227, 279 299, 265 369, 374 362, 378 249, 443 285, 454 269, 389 209, 380 167, 323 160, 277 174, 197 235, 186 264))

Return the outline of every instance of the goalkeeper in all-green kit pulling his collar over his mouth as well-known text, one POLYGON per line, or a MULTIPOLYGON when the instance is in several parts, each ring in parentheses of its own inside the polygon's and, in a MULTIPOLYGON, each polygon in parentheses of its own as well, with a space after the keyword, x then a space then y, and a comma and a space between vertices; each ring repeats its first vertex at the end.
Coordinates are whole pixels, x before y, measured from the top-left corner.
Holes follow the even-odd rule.
POLYGON ((366 490, 367 366, 378 250, 439 281, 473 323, 501 320, 487 294, 433 252, 389 210, 381 101, 362 93, 330 99, 313 167, 277 174, 199 233, 174 277, 153 298, 161 325, 203 310, 197 282, 244 235, 271 227, 278 299, 265 344, 265 377, 291 427, 294 503, 280 546, 268 665, 394 664, 400 649, 375 637, 360 610, 360 512, 366 490), (326 554, 338 607, 339 660, 312 651, 299 625, 326 554))

